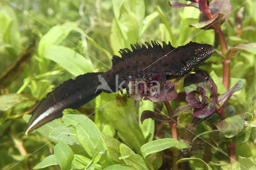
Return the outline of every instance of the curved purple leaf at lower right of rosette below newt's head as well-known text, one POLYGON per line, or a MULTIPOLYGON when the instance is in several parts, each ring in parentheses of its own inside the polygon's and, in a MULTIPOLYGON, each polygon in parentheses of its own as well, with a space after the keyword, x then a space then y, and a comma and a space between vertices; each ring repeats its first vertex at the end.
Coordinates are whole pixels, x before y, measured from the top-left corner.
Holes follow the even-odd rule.
POLYGON ((216 101, 217 99, 214 96, 214 99, 210 103, 204 105, 204 107, 195 108, 192 117, 204 118, 212 115, 215 112, 216 101))

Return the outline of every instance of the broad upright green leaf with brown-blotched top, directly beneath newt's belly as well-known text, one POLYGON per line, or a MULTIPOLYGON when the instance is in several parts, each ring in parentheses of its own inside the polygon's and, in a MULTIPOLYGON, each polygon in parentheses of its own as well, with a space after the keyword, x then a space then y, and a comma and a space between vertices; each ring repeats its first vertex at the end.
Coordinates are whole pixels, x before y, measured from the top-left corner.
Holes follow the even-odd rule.
POLYGON ((127 96, 110 93, 101 93, 101 105, 105 121, 116 128, 118 136, 136 153, 140 153, 140 147, 145 143, 145 138, 138 123, 137 111, 134 108, 134 100, 127 96), (111 100, 114 100, 110 102, 111 100), (109 103, 110 102, 110 103, 109 103))

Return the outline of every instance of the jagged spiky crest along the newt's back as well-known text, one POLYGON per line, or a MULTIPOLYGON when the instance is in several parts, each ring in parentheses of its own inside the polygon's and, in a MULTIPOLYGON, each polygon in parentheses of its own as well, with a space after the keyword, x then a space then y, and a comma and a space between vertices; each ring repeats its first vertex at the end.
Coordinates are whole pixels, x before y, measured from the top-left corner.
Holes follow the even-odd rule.
POLYGON ((162 46, 155 41, 151 41, 151 44, 148 42, 145 42, 145 44, 142 43, 142 45, 140 46, 138 43, 132 45, 131 44, 131 48, 132 51, 128 48, 124 48, 124 49, 120 49, 120 51, 118 51, 122 58, 117 56, 117 55, 113 55, 112 58, 112 65, 115 65, 116 63, 118 63, 119 61, 122 61, 124 59, 126 59, 127 57, 132 57, 133 55, 135 55, 138 52, 141 51, 145 51, 145 52, 156 52, 156 51, 171 51, 173 49, 175 49, 174 47, 172 47, 170 41, 168 42, 168 44, 166 44, 165 42, 162 42, 162 46), (146 45, 147 47, 146 47, 146 45))

